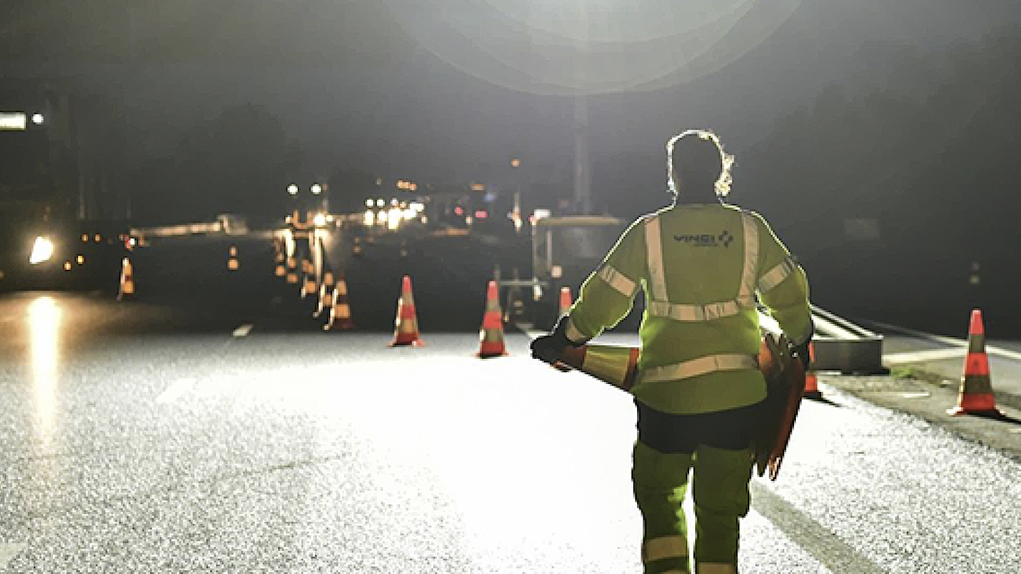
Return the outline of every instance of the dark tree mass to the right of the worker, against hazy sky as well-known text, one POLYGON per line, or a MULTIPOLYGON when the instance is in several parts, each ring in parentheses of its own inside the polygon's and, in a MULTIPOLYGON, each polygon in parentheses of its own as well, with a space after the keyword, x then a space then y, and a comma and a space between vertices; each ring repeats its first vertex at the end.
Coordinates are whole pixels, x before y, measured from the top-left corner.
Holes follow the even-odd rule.
POLYGON ((820 302, 955 332, 982 305, 1001 334, 1017 331, 1021 34, 878 56, 877 76, 936 71, 890 88, 829 87, 776 123, 742 178, 820 302))

